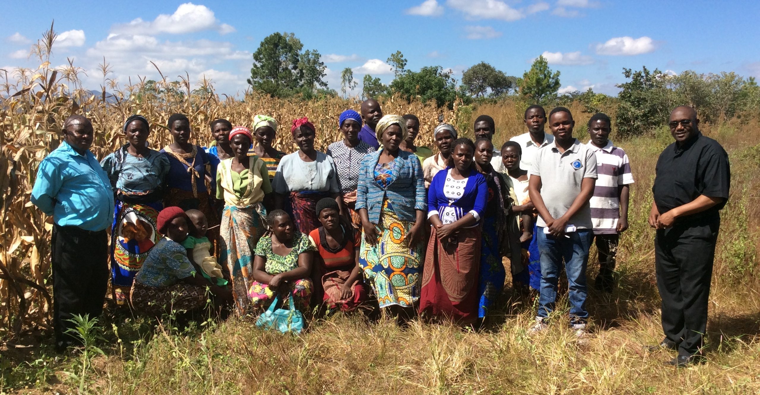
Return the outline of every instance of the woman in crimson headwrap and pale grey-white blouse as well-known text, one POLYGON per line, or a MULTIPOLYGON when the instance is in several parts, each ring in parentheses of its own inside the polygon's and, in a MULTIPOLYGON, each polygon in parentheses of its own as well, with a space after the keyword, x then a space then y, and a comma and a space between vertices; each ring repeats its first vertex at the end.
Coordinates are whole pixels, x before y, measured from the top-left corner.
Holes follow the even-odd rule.
POLYGON ((299 150, 280 160, 272 187, 282 195, 277 199, 277 208, 290 213, 299 232, 308 235, 321 226, 316 216, 321 198, 334 198, 342 216, 347 216, 346 207, 340 197, 335 163, 314 149, 316 129, 312 122, 306 117, 294 119, 290 132, 299 150))

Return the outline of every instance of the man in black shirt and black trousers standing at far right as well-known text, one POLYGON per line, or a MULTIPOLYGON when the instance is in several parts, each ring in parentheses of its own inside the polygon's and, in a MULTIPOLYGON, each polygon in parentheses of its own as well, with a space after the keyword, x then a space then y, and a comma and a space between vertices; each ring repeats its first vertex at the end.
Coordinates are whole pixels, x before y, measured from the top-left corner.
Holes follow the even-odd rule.
POLYGON ((670 144, 657 160, 649 225, 657 229, 654 265, 662 297, 665 339, 657 347, 677 349, 670 365, 701 360, 708 321, 708 295, 719 211, 730 186, 728 154, 699 132, 694 109, 670 113, 670 144))

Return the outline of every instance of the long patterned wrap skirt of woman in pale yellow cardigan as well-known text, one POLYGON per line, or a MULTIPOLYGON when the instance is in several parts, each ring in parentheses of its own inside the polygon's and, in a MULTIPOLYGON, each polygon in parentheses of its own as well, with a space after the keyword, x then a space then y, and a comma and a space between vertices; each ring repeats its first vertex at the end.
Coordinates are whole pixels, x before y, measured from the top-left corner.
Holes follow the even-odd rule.
POLYGON ((220 226, 221 264, 226 265, 232 280, 236 310, 245 314, 251 304, 248 291, 253 280, 253 257, 256 243, 266 231, 261 203, 250 207, 224 206, 220 226))

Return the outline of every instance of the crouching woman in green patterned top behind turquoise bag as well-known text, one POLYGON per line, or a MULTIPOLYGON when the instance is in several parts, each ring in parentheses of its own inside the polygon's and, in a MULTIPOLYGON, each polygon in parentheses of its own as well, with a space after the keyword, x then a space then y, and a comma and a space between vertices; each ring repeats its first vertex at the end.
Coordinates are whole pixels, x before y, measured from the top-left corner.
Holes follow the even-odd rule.
POLYGON ((268 308, 275 292, 287 301, 293 294, 295 308, 309 311, 312 296, 312 243, 309 237, 296 230, 290 215, 274 210, 267 216, 271 235, 261 236, 253 261, 253 283, 248 295, 255 308, 268 308))

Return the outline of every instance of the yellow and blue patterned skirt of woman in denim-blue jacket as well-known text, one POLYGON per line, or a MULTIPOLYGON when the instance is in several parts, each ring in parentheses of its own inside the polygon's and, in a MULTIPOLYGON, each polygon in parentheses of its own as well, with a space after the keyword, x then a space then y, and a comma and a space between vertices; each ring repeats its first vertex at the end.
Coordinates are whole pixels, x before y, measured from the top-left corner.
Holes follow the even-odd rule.
POLYGON ((376 244, 370 245, 362 235, 359 267, 380 307, 412 307, 420 301, 423 246, 420 243, 410 248, 407 233, 413 225, 399 219, 386 200, 377 225, 376 244))

